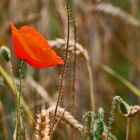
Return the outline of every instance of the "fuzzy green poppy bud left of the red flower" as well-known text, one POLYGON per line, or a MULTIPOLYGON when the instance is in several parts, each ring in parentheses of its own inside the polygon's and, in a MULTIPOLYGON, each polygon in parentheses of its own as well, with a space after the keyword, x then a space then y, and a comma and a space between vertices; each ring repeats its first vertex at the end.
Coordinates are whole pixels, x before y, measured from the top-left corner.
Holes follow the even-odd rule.
POLYGON ((9 48, 7 48, 6 46, 0 47, 0 55, 1 55, 2 59, 5 60, 6 62, 10 61, 11 52, 10 52, 9 48))

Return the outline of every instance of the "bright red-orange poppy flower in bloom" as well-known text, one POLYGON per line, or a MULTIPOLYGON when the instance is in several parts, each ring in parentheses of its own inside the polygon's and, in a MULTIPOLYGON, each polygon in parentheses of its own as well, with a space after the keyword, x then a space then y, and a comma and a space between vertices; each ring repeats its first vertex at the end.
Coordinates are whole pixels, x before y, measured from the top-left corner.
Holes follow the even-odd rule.
POLYGON ((63 60, 50 48, 48 41, 35 29, 22 26, 16 29, 11 23, 12 45, 17 57, 36 68, 63 64, 63 60))

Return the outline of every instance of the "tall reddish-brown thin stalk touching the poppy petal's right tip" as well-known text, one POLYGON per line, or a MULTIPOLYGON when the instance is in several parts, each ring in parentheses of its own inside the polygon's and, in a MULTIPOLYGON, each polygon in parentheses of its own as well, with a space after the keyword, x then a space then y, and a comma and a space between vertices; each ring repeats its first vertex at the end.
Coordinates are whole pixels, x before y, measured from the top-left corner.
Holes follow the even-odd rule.
POLYGON ((54 111, 54 117, 53 117, 53 124, 51 127, 51 136, 53 135, 53 128, 55 126, 55 118, 56 118, 56 114, 57 114, 57 110, 58 110, 58 106, 59 103, 62 99, 62 90, 63 90, 63 84, 64 84, 64 77, 65 77, 65 71, 66 71, 66 66, 67 66, 67 59, 68 59, 68 48, 69 48, 69 35, 70 35, 70 14, 69 14, 69 6, 67 5, 67 21, 68 21, 68 25, 67 25, 67 45, 66 45, 66 52, 65 52, 65 58, 64 58, 64 65, 62 67, 62 74, 61 74, 61 78, 60 78, 60 83, 59 83, 59 89, 58 89, 58 98, 57 98, 57 102, 56 102, 56 107, 55 107, 55 111, 54 111))

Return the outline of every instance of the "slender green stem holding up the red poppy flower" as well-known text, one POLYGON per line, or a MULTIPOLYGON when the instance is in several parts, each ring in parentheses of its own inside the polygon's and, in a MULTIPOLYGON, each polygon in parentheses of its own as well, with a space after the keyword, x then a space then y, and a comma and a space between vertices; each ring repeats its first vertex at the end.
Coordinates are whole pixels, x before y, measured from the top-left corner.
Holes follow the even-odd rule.
POLYGON ((20 63, 20 86, 19 86, 19 92, 17 94, 17 140, 22 139, 22 126, 21 126, 21 98, 22 98, 22 78, 23 78, 23 65, 24 61, 22 60, 20 63))

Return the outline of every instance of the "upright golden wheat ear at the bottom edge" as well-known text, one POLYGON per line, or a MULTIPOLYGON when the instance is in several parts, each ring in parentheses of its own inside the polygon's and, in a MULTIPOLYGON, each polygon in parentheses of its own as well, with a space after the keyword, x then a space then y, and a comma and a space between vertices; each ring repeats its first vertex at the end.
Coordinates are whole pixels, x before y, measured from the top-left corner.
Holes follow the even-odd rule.
POLYGON ((36 140, 50 140, 50 119, 49 112, 45 109, 41 110, 41 113, 37 114, 36 122, 36 140))

